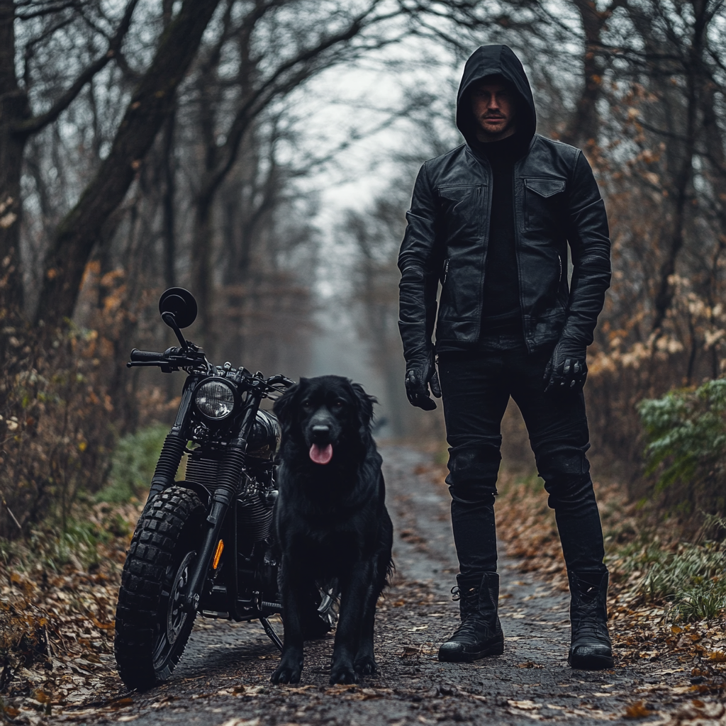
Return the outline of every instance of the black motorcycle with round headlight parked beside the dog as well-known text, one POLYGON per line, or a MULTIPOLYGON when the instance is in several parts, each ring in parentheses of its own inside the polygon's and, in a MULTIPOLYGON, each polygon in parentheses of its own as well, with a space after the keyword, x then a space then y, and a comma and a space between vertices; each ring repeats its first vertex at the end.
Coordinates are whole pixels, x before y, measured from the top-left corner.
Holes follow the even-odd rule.
MULTIPOLYGON (((118 593, 116 664, 123 682, 139 689, 171 674, 197 613, 258 619, 282 650, 268 621, 282 613, 271 531, 280 425, 260 404, 293 381, 253 375, 230 363, 210 364, 181 333, 197 317, 197 303, 187 290, 166 290, 159 311, 179 346, 163 353, 134 348, 126 365, 156 366, 165 373, 184 370, 188 376, 118 593), (175 481, 184 454, 186 473, 183 481, 175 481)), ((320 632, 335 622, 336 605, 333 590, 311 593, 320 632)))

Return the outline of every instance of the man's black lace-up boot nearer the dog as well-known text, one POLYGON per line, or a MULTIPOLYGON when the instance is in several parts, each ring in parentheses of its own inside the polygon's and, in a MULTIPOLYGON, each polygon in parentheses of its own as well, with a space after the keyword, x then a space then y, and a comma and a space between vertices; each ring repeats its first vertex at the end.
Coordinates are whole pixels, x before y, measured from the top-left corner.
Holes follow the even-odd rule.
POLYGON ((461 625, 439 648, 439 660, 448 663, 470 663, 484 656, 504 653, 504 633, 499 624, 499 575, 485 572, 481 583, 462 582, 454 587, 454 600, 459 597, 461 625))

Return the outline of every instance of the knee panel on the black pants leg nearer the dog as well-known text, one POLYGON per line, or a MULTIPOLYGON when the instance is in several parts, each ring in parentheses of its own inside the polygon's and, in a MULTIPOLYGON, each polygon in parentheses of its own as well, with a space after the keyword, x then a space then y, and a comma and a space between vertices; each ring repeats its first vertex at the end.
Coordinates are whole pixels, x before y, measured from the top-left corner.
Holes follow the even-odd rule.
POLYGON ((449 476, 446 484, 456 502, 494 504, 497 474, 502 454, 499 446, 454 446, 449 449, 449 476))

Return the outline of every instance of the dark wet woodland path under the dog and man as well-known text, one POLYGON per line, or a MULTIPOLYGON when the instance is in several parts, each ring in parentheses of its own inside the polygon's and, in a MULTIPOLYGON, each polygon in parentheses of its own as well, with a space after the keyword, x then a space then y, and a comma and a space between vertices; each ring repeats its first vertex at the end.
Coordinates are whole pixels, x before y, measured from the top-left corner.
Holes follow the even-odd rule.
POLYGON ((690 673, 677 662, 645 661, 637 669, 606 672, 570 669, 567 594, 522 574, 503 553, 505 654, 470 665, 439 663, 438 645, 457 624, 449 592, 457 560, 448 494, 433 481, 428 454, 404 447, 382 453, 396 528, 396 578, 378 615, 378 677, 331 688, 331 637, 308 645, 299 685, 273 686, 269 676, 278 653, 259 624, 198 619, 169 682, 131 695, 119 683, 118 693, 109 694, 112 701, 65 711, 57 722, 413 726, 535 719, 586 725, 620 722, 638 701, 643 717, 660 721, 672 704, 687 698, 690 673))

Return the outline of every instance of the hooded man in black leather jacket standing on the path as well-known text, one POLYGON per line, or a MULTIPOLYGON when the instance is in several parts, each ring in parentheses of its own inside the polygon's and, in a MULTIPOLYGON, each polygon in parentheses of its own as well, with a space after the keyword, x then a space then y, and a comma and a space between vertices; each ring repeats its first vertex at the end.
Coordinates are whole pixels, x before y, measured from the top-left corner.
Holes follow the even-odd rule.
POLYGON ((399 255, 407 394, 431 410, 429 388, 443 393, 450 446, 446 483, 460 563, 452 592, 461 624, 439 659, 473 661, 504 649, 494 497, 500 424, 512 396, 568 568, 568 660, 608 668, 608 571, 582 396, 586 348, 610 284, 608 222, 582 152, 535 134, 535 125, 515 54, 507 46, 476 50, 457 97, 466 143, 421 168, 399 255))

